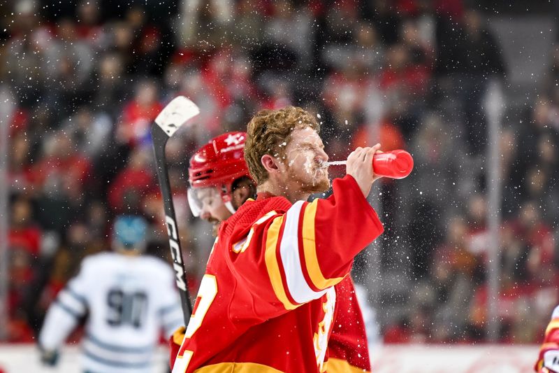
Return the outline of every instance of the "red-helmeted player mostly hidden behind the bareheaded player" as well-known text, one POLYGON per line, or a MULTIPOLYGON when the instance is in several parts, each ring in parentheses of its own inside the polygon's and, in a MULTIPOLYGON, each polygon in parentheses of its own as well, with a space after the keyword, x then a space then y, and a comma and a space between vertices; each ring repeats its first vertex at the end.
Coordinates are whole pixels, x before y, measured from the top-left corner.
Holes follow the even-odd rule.
MULTIPOLYGON (((229 132, 210 140, 190 160, 189 204, 194 216, 219 227, 249 197, 256 197, 256 183, 249 174, 245 156, 244 132, 229 132)), ((215 230, 217 233, 217 230, 215 230)), ((350 276, 335 286, 340 309, 328 351, 328 372, 370 371, 365 325, 361 316, 355 287, 350 276)), ((184 339, 184 327, 170 340, 171 366, 184 339)))

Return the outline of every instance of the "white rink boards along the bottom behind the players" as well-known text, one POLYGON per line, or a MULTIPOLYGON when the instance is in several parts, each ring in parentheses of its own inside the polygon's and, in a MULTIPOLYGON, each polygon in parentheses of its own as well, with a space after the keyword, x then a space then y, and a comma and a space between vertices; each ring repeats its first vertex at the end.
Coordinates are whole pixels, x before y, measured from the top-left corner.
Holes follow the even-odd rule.
MULTIPOLYGON (((538 346, 386 345, 371 346, 374 373, 525 373, 532 372, 538 346)), ((0 344, 0 371, 80 372, 77 346, 66 346, 57 368, 48 369, 39 363, 38 350, 31 344, 0 344)), ((154 361, 154 373, 164 373, 167 349, 161 346, 154 361)))

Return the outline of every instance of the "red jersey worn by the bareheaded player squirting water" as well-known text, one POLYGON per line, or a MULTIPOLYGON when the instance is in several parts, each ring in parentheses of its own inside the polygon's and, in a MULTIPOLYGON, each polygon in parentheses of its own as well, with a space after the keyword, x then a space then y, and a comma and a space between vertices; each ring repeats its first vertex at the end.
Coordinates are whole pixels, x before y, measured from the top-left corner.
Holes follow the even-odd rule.
POLYGON ((219 230, 173 373, 326 372, 334 286, 382 230, 351 176, 312 203, 245 202, 219 230))

